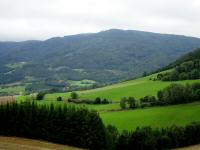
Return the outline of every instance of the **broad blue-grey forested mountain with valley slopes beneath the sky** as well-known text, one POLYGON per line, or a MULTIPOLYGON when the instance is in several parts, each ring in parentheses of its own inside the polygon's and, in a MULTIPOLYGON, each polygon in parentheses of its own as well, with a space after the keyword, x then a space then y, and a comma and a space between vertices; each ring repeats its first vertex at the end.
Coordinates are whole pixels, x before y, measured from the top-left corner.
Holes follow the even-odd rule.
POLYGON ((83 79, 111 83, 162 68, 198 47, 199 38, 118 29, 0 42, 0 84, 66 86, 67 80, 83 79))

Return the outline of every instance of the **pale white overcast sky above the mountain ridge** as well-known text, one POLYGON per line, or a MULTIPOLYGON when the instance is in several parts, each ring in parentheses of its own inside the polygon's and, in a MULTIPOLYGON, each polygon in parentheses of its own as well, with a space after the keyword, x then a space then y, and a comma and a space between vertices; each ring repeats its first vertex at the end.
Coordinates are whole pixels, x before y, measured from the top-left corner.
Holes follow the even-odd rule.
POLYGON ((0 0, 0 40, 111 28, 200 37, 200 0, 0 0))

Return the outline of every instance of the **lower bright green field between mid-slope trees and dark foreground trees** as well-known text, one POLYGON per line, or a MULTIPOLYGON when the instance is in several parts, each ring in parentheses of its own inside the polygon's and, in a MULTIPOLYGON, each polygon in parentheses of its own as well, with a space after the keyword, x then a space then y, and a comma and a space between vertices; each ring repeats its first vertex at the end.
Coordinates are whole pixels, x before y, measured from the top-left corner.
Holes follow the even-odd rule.
POLYGON ((134 130, 136 127, 151 126, 153 128, 171 125, 186 125, 200 121, 200 103, 181 104, 145 109, 101 112, 105 124, 116 126, 120 131, 134 130))

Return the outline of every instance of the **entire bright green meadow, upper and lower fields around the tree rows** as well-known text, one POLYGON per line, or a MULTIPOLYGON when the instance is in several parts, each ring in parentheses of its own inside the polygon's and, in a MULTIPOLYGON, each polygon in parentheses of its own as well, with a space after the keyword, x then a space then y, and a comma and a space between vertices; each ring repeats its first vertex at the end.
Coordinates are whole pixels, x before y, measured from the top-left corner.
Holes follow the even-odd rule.
MULTIPOLYGON (((133 96, 141 98, 146 95, 155 95, 171 83, 190 84, 200 82, 200 80, 185 80, 177 82, 152 81, 150 78, 155 76, 147 76, 135 80, 130 80, 107 87, 77 91, 80 98, 95 99, 96 97, 107 98, 112 100, 112 104, 105 105, 83 105, 69 104, 79 107, 87 107, 97 110, 103 120, 108 125, 116 126, 120 131, 124 129, 134 130, 136 127, 152 126, 154 128, 167 127, 171 125, 186 125, 193 121, 200 121, 200 103, 190 103, 174 106, 150 107, 135 110, 120 110, 119 101, 122 97, 133 96)), ((39 104, 62 105, 67 103, 70 93, 53 93, 47 94, 39 104), (56 98, 61 96, 63 101, 58 102, 56 98)), ((18 101, 24 100, 23 96, 17 97, 18 101)))

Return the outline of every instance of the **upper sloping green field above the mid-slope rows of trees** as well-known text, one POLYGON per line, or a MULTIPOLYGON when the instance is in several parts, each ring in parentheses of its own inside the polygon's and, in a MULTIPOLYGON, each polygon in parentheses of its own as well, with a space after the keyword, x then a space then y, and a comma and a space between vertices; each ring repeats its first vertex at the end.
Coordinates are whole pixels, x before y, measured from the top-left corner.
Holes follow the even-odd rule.
MULTIPOLYGON (((80 98, 95 99, 96 97, 107 98, 113 101, 119 101, 122 97, 134 96, 135 98, 141 98, 146 95, 156 95, 158 90, 165 88, 171 83, 194 83, 200 82, 200 80, 185 80, 177 82, 163 82, 163 81, 152 81, 149 80, 155 75, 151 75, 136 80, 126 81, 107 87, 79 91, 80 98)), ((70 93, 54 93, 47 94, 45 100, 55 100, 58 96, 62 96, 67 99, 70 93)))

